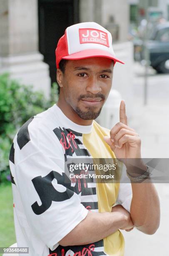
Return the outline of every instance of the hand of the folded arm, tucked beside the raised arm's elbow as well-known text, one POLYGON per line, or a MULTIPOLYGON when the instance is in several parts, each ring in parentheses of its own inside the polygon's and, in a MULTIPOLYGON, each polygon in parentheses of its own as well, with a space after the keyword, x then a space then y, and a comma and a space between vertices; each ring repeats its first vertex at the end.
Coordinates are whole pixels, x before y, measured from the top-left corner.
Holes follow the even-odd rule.
POLYGON ((134 224, 132 222, 132 219, 130 217, 130 213, 122 207, 122 205, 115 205, 112 207, 112 212, 120 212, 125 216, 125 225, 124 227, 120 228, 122 230, 126 230, 127 232, 133 230, 134 224))

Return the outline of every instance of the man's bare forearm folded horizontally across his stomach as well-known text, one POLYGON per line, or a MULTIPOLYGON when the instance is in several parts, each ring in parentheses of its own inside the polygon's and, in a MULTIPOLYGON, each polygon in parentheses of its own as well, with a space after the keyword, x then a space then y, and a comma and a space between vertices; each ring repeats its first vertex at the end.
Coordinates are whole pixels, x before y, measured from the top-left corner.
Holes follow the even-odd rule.
POLYGON ((126 225, 126 218, 119 212, 96 213, 89 211, 59 244, 62 246, 82 245, 97 242, 126 225))

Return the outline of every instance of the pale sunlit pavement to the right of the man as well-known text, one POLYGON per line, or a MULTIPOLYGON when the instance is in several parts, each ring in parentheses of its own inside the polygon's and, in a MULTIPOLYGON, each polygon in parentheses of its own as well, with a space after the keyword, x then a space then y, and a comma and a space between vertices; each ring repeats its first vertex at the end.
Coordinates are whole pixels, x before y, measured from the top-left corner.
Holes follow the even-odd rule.
MULTIPOLYGON (((169 158, 169 74, 156 74, 149 68, 147 105, 143 104, 144 67, 137 63, 133 82, 133 108, 128 124, 142 139, 142 157, 169 158)), ((155 187, 161 205, 159 229, 151 236, 136 228, 122 231, 125 256, 169 256, 169 183, 158 183, 155 187)))

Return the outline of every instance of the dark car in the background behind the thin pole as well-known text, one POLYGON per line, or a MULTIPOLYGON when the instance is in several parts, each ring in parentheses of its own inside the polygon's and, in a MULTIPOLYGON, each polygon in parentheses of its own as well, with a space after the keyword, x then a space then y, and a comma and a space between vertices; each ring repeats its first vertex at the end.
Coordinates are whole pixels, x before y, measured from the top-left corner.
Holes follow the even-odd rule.
POLYGON ((144 49, 149 51, 150 66, 158 73, 169 73, 169 22, 156 25, 149 36, 149 40, 134 42, 134 59, 144 59, 144 49))

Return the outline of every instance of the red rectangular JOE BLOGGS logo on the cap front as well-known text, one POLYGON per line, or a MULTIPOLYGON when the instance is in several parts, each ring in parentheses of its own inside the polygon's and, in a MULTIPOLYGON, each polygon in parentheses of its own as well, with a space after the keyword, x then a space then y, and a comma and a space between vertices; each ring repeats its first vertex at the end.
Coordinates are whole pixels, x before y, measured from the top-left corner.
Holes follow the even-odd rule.
POLYGON ((109 47, 108 35, 104 31, 92 28, 80 28, 79 37, 80 44, 95 43, 109 47))

